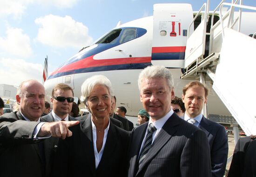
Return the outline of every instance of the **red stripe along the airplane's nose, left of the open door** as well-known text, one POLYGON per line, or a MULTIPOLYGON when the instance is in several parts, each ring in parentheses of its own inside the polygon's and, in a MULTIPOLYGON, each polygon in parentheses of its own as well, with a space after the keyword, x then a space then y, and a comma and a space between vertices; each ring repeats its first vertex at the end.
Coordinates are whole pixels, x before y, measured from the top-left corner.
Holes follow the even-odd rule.
POLYGON ((55 75, 57 73, 66 72, 66 71, 78 70, 82 68, 151 62, 151 57, 129 57, 129 58, 97 59, 97 60, 94 60, 93 57, 94 56, 90 56, 90 57, 81 59, 77 62, 64 65, 61 68, 55 70, 53 73, 51 73, 51 75, 55 75))

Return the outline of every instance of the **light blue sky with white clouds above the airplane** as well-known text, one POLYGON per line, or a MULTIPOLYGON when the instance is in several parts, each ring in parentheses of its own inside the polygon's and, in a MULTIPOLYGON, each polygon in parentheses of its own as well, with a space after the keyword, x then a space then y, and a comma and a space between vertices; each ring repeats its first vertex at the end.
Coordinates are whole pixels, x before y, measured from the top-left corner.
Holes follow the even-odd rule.
MULTIPOLYGON (((211 0, 210 10, 221 0, 211 0)), ((256 0, 243 0, 256 6, 256 0)), ((0 84, 42 82, 45 57, 49 74, 93 44, 121 20, 153 15, 158 3, 189 3, 198 11, 206 0, 0 0, 0 84)), ((230 2, 230 0, 227 0, 230 2)))

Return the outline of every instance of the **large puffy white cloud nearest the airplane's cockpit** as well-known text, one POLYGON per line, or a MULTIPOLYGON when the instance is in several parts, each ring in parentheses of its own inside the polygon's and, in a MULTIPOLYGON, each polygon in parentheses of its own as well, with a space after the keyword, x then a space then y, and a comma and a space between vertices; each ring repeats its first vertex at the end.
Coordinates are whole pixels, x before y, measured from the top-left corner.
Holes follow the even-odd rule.
POLYGON ((47 15, 35 19, 41 25, 37 40, 53 47, 74 47, 81 49, 93 42, 88 35, 88 27, 76 22, 70 16, 47 15))

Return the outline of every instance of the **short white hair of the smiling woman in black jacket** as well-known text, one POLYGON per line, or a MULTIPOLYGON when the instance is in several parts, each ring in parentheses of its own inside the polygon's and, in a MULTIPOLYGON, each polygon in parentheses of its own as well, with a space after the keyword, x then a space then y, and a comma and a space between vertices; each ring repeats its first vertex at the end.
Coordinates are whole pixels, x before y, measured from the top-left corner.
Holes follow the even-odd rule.
POLYGON ((87 106, 88 96, 90 95, 91 91, 93 90, 94 86, 100 84, 108 88, 108 92, 112 97, 114 95, 112 84, 106 76, 103 75, 95 75, 91 76, 83 82, 81 87, 81 101, 87 106))

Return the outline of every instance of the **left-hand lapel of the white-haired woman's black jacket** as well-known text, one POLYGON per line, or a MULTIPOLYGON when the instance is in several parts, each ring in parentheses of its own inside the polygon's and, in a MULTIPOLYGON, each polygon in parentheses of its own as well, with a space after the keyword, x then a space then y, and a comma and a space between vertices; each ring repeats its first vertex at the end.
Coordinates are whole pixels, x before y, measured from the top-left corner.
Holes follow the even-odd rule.
POLYGON ((95 170, 95 157, 94 157, 94 141, 93 141, 93 134, 92 134, 92 122, 91 122, 91 116, 88 116, 87 119, 85 119, 82 127, 81 127, 82 133, 87 137, 87 140, 85 141, 84 136, 81 136, 81 142, 82 147, 84 148, 84 151, 86 153, 87 161, 90 162, 89 166, 94 174, 96 175, 95 170))

